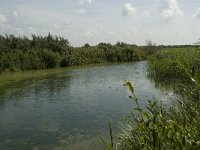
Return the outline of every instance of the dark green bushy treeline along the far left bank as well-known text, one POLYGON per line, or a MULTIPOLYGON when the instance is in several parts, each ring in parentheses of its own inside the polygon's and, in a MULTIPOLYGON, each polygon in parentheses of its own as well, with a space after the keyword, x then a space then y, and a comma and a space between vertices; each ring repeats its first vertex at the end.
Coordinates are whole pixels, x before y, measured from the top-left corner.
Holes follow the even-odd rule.
POLYGON ((58 36, 0 36, 0 73, 146 59, 149 48, 117 42, 72 47, 58 36))

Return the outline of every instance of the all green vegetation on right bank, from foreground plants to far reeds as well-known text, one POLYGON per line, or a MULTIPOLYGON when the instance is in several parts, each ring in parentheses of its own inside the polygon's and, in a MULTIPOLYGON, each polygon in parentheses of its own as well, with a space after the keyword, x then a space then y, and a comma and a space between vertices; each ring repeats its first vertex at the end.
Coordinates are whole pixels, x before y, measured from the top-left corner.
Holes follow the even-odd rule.
POLYGON ((112 135, 107 149, 160 150, 200 149, 200 49, 178 47, 164 49, 149 59, 152 77, 171 79, 181 84, 181 92, 170 106, 148 101, 146 108, 139 105, 131 83, 125 85, 136 107, 125 117, 122 134, 112 135), (189 83, 189 84, 188 84, 189 83))

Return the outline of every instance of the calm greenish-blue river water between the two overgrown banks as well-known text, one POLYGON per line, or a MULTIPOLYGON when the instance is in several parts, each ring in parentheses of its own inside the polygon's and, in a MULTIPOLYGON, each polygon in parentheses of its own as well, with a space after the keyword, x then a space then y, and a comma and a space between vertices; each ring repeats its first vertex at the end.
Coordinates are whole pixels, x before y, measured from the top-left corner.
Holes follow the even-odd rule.
POLYGON ((143 106, 168 97, 147 78, 145 61, 1 75, 0 149, 103 149, 108 120, 118 133, 135 105, 125 79, 143 106))

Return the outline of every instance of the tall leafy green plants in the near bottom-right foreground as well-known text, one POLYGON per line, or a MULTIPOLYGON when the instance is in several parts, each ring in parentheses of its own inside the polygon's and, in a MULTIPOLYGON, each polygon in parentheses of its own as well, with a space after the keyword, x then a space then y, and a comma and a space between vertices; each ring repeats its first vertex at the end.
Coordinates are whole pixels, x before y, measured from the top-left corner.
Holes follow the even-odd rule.
POLYGON ((125 117, 122 133, 109 149, 200 149, 199 77, 191 79, 195 90, 185 92, 170 108, 156 101, 148 101, 146 108, 142 108, 131 83, 125 81, 136 107, 125 117))

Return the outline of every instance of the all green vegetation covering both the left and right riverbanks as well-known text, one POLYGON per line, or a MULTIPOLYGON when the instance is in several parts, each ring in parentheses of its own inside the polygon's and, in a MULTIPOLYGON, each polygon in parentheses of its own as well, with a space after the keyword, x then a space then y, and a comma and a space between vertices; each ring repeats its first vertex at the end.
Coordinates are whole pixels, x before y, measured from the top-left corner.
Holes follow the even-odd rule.
POLYGON ((178 79, 182 90, 169 107, 162 102, 149 101, 141 108, 131 83, 125 85, 136 107, 125 117, 122 134, 113 137, 108 149, 200 149, 200 48, 198 46, 147 46, 125 43, 100 43, 70 46, 67 39, 48 35, 15 37, 0 36, 0 73, 44 68, 86 65, 104 62, 128 62, 146 59, 150 76, 160 79, 178 79), (159 49, 163 49, 158 51, 159 49), (155 53, 156 52, 156 53, 155 53), (155 54, 154 54, 155 53, 155 54), (153 55, 152 55, 153 54, 153 55), (184 81, 184 82, 183 82, 184 81), (187 85, 185 84, 187 82, 187 85), (189 86, 188 86, 189 83, 189 86))

